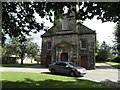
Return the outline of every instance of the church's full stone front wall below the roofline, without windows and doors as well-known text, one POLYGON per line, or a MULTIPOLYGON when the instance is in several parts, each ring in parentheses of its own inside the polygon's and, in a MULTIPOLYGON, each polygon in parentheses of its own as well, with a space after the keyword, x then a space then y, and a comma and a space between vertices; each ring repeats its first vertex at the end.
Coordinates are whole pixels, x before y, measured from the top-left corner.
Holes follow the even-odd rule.
MULTIPOLYGON (((56 48, 55 45, 61 42, 70 43, 72 46, 70 48, 64 49, 65 52, 68 52, 68 61, 75 62, 76 64, 80 65, 80 58, 82 55, 87 55, 89 60, 89 68, 95 68, 95 40, 96 36, 94 34, 87 34, 87 35, 60 35, 60 36, 53 36, 53 37, 44 37, 42 39, 42 53, 41 53, 41 60, 42 64, 45 64, 46 55, 51 55, 51 62, 55 62, 60 60, 60 51, 61 48, 56 48), (87 49, 81 50, 80 40, 86 39, 87 40, 87 49), (46 42, 52 42, 51 50, 47 50, 46 42), (78 46, 78 48, 77 48, 78 46)), ((62 51, 63 52, 63 51, 62 51)))

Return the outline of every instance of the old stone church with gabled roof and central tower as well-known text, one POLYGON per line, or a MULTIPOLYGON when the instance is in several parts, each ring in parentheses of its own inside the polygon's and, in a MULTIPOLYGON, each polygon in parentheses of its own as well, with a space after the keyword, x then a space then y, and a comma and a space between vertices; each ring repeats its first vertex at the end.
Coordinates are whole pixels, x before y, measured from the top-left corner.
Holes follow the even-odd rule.
POLYGON ((73 62, 86 69, 95 69, 96 32, 78 23, 75 14, 63 14, 42 36, 41 64, 56 61, 73 62))

